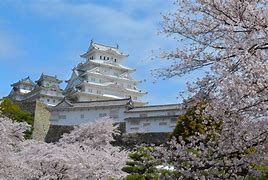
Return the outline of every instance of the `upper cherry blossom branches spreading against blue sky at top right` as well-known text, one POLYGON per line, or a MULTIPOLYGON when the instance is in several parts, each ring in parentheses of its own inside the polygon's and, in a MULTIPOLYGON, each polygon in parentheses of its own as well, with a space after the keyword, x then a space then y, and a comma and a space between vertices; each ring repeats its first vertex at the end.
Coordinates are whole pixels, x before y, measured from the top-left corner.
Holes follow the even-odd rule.
POLYGON ((201 68, 209 73, 189 89, 215 99, 212 106, 247 119, 268 115, 268 2, 265 0, 177 0, 163 16, 162 32, 178 40, 163 52, 174 60, 160 77, 201 68))

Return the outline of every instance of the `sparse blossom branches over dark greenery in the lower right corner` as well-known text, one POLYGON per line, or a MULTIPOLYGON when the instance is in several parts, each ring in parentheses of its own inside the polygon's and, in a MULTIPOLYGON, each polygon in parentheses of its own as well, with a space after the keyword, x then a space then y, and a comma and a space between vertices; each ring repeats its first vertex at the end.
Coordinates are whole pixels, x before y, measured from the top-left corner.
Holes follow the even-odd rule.
POLYGON ((187 141, 182 136, 174 138, 168 146, 156 147, 153 156, 161 159, 164 166, 174 168, 169 173, 173 179, 265 179, 268 175, 267 170, 263 171, 268 167, 267 147, 263 145, 266 135, 260 137, 258 132, 262 131, 263 122, 253 125, 256 133, 245 140, 211 129, 188 137, 187 141), (258 138, 253 140, 253 137, 258 138))

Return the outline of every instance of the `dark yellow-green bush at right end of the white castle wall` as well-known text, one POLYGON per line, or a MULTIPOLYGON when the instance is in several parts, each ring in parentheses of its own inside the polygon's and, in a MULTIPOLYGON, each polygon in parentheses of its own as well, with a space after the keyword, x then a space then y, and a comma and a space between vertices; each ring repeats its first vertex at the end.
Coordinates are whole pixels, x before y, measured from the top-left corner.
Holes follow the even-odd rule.
POLYGON ((220 131, 222 121, 216 121, 212 116, 204 115, 204 110, 205 105, 197 105, 180 115, 171 137, 181 136, 187 142, 187 138, 195 136, 196 133, 204 134, 211 130, 220 131))

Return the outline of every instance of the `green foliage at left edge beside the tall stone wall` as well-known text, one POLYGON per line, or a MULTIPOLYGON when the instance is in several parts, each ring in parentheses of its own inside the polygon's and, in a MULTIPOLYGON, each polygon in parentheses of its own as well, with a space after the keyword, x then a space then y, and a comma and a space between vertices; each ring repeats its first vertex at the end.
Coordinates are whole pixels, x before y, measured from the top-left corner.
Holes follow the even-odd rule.
MULTIPOLYGON (((17 121, 17 122, 26 122, 31 127, 33 127, 33 115, 31 113, 22 111, 21 108, 15 104, 12 100, 5 98, 3 102, 0 104, 0 111, 6 117, 17 121)), ((27 130, 25 132, 25 138, 30 139, 32 135, 33 128, 27 130)))

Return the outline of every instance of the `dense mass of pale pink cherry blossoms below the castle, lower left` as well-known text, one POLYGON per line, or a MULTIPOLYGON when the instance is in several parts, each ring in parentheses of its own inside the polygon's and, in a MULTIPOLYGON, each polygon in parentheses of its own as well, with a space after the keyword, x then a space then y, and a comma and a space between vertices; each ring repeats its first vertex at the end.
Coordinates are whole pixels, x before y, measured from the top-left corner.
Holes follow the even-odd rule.
POLYGON ((24 140, 27 126, 0 119, 1 179, 120 179, 127 153, 110 144, 109 119, 84 124, 56 144, 24 140))

